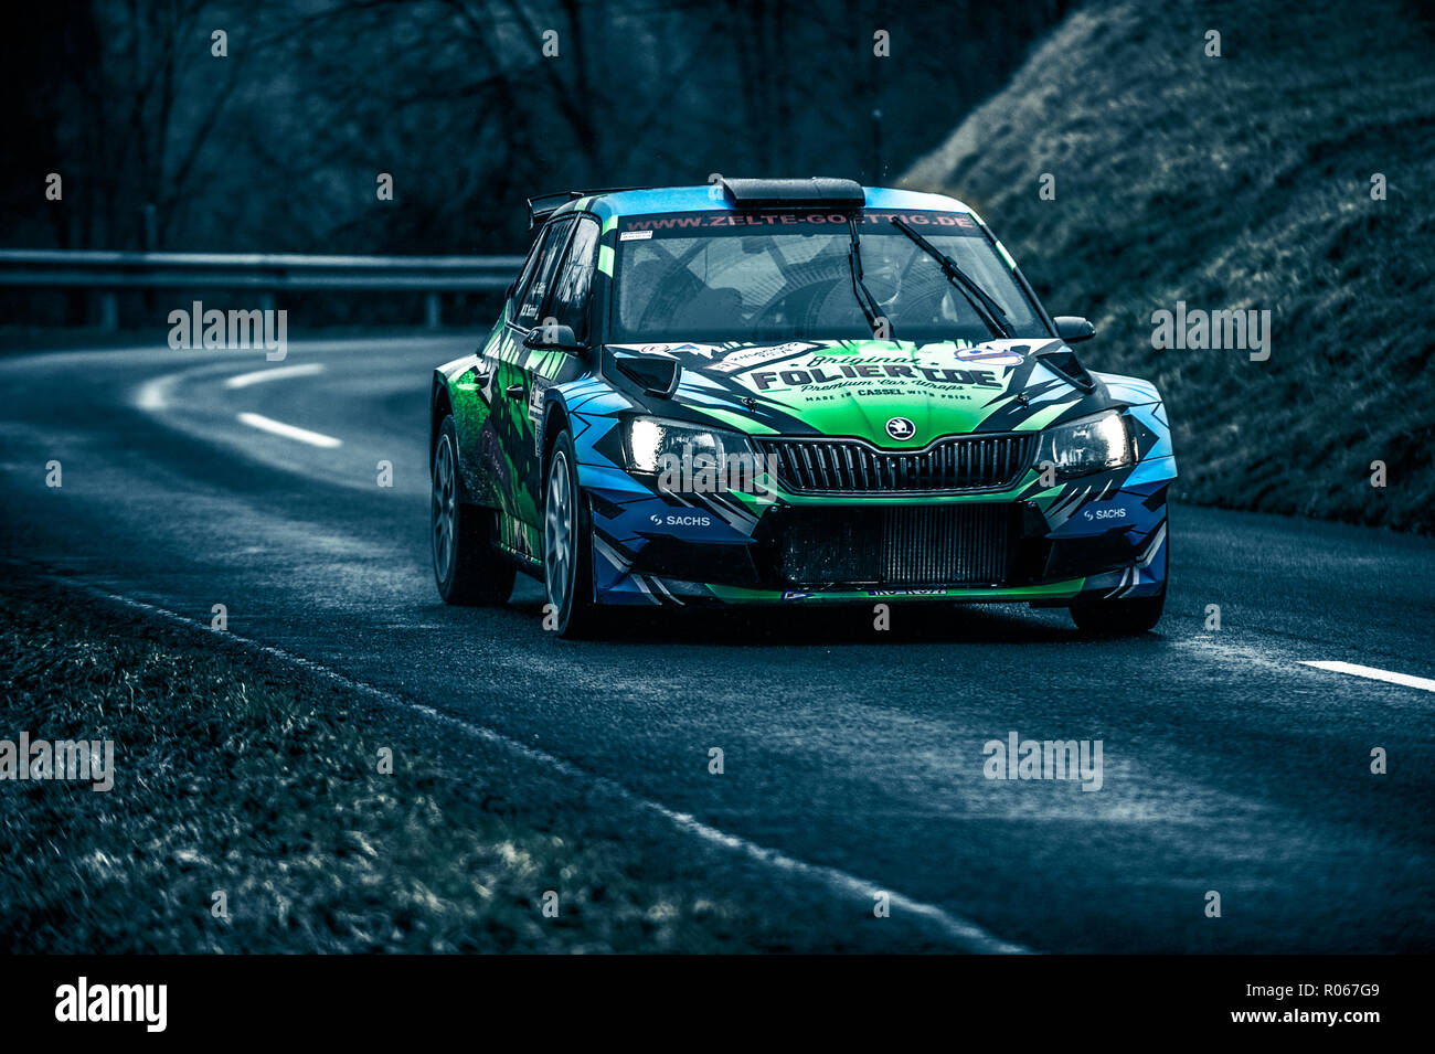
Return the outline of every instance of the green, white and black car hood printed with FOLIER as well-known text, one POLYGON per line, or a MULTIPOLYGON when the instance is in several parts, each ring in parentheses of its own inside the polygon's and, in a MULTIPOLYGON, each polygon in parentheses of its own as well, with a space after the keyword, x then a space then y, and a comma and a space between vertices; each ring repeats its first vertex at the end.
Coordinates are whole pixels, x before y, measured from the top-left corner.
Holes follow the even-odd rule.
POLYGON ((855 436, 920 449, 938 436, 1027 432, 1114 404, 1099 379, 1075 367, 1060 340, 914 343, 610 344, 677 359, 670 399, 689 413, 751 435, 855 436))

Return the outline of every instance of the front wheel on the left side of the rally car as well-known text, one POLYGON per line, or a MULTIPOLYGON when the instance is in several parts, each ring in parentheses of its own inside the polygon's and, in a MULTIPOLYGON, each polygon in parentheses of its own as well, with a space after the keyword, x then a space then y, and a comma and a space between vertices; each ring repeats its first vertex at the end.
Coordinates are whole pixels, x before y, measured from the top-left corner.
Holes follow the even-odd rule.
POLYGON ((591 635, 597 622, 593 516, 578 488, 578 459, 567 429, 554 440, 544 483, 542 571, 548 594, 545 625, 557 630, 560 637, 591 635))

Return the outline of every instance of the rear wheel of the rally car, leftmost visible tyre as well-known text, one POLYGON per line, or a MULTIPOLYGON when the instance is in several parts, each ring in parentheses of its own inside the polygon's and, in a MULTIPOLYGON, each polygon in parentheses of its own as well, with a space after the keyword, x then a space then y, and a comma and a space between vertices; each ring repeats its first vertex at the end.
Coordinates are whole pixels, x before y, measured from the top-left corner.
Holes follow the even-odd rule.
POLYGON ((464 500, 458 430, 446 416, 433 445, 429 541, 433 581, 445 604, 498 607, 514 591, 514 565, 494 548, 494 513, 464 500))

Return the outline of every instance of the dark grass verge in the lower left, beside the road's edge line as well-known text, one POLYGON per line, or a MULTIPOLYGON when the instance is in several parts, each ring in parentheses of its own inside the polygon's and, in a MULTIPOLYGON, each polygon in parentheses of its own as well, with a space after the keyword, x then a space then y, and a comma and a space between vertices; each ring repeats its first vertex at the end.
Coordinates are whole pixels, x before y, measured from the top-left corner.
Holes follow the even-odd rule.
POLYGON ((644 836, 591 787, 445 756, 452 733, 301 670, 7 579, 0 739, 113 740, 115 784, 0 782, 3 951, 930 949, 821 888, 723 873, 680 832, 644 836))

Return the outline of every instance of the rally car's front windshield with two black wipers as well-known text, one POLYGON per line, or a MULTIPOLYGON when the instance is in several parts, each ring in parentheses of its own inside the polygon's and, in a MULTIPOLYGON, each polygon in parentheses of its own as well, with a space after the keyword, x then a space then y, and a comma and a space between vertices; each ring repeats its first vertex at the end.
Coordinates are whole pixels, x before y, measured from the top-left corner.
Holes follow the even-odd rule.
MULTIPOLYGON (((1049 336, 1010 267, 966 212, 857 215, 862 281, 890 336, 987 340, 971 303, 891 219, 907 221, 1006 311, 1013 337, 1049 336)), ((868 338, 845 215, 687 212, 618 219, 614 343, 868 338)))

